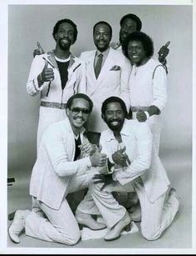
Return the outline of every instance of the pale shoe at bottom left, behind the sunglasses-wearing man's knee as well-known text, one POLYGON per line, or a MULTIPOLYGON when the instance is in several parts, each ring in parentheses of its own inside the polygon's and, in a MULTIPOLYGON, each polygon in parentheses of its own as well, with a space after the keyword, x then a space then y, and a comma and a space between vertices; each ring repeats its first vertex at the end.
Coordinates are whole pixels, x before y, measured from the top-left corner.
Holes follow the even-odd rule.
POLYGON ((22 229, 25 228, 25 220, 29 213, 31 213, 29 210, 16 211, 12 224, 8 228, 10 238, 14 243, 20 243, 19 234, 22 232, 22 229))

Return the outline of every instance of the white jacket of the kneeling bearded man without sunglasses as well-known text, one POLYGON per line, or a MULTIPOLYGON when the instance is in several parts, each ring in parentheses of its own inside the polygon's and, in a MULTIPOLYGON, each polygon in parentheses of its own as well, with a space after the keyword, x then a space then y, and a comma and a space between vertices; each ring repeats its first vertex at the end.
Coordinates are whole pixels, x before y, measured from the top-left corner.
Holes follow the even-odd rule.
MULTIPOLYGON (((125 185, 140 176, 149 201, 153 203, 167 191, 169 179, 158 154, 154 153, 149 126, 137 120, 125 119, 120 134, 126 147, 125 153, 129 156, 131 163, 127 168, 117 169, 113 173, 113 178, 118 180, 121 185, 125 185)), ((100 144, 101 152, 106 153, 110 162, 113 162, 111 155, 118 150, 119 143, 110 129, 101 133, 100 144)))

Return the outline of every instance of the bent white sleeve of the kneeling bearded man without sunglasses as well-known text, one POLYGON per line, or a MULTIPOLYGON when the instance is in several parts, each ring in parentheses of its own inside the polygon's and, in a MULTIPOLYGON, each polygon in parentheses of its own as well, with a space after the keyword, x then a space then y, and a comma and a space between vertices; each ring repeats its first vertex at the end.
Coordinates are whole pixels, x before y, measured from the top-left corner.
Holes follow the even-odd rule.
POLYGON ((130 181, 139 177, 142 173, 145 173, 149 169, 151 163, 152 154, 152 134, 149 130, 149 126, 146 123, 139 123, 135 128, 136 136, 136 158, 130 166, 122 169, 115 170, 113 178, 118 180, 121 185, 130 183, 130 181))

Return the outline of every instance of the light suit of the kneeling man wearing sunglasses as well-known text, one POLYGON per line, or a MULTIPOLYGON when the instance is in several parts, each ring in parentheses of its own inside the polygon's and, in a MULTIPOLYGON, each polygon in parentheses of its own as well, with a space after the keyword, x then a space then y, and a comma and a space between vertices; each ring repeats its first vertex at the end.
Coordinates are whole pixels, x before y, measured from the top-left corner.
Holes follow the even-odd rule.
MULTIPOLYGON (((81 143, 87 142, 84 132, 85 129, 81 131, 81 143)), ((32 212, 26 219, 27 235, 65 244, 74 244, 80 238, 66 194, 86 188, 94 169, 89 156, 74 161, 75 151, 68 118, 51 124, 43 133, 30 181, 32 212)))

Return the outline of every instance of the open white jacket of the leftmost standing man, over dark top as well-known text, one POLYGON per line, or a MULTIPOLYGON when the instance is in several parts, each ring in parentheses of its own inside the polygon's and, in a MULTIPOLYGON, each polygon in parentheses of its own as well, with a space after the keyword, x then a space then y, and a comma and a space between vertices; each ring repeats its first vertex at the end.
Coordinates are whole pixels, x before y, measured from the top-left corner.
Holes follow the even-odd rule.
POLYGON ((66 87, 61 88, 61 75, 56 63, 53 51, 37 55, 32 60, 31 70, 27 81, 27 93, 30 96, 35 96, 41 93, 41 100, 52 103, 66 103, 68 98, 73 94, 83 92, 85 85, 85 64, 71 54, 71 59, 68 67, 68 79, 66 87), (47 59, 48 67, 54 71, 54 79, 51 82, 45 82, 38 87, 37 76, 42 73, 45 65, 44 58, 47 59))

